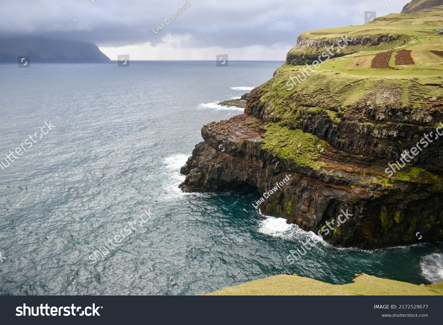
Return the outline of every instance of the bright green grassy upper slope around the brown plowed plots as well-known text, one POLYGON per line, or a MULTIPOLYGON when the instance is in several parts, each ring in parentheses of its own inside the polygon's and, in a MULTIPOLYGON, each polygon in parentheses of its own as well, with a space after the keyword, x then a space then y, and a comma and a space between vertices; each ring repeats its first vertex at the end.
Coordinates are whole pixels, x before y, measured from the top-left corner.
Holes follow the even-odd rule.
MULTIPOLYGON (((390 34, 400 35, 400 39, 392 43, 382 42, 377 46, 348 45, 341 51, 349 53, 349 55, 324 62, 313 76, 308 77, 307 81, 291 91, 286 90, 288 86, 285 83, 289 80, 289 75, 294 76, 295 72, 301 74, 303 66, 284 64, 279 68, 279 75, 274 78, 272 88, 276 87, 276 91, 280 95, 288 97, 295 91, 310 92, 324 87, 325 84, 334 85, 334 87, 328 88, 331 91, 328 96, 341 96, 343 98, 341 106, 346 107, 356 103, 365 91, 375 84, 375 81, 382 79, 395 80, 402 89, 408 89, 408 85, 411 83, 443 85, 443 57, 431 52, 431 50, 443 50, 443 36, 437 34, 437 31, 443 27, 442 20, 443 6, 440 6, 431 12, 387 15, 361 26, 305 32, 302 35, 308 39, 335 39, 346 34, 349 34, 350 38, 390 34), (396 66, 394 59, 400 49, 411 50, 411 57, 415 64, 396 66), (391 69, 371 68, 374 56, 388 51, 393 51, 389 61, 391 69), (359 63, 358 66, 357 63, 359 63), (337 72, 339 74, 336 74, 337 72), (413 79, 414 77, 418 77, 418 79, 413 79), (350 86, 351 84, 354 85, 350 86), (350 88, 350 91, 346 92, 345 88, 350 88)), ((324 48, 295 46, 289 53, 320 54, 324 50, 324 48)), ((429 87, 427 90, 420 90, 424 91, 427 96, 441 96, 442 93, 442 89, 435 86, 429 87)), ((403 97, 403 104, 410 104, 408 98, 409 96, 403 97)), ((412 101, 414 101, 413 98, 412 101)), ((416 101, 415 104, 421 103, 421 101, 416 101)))

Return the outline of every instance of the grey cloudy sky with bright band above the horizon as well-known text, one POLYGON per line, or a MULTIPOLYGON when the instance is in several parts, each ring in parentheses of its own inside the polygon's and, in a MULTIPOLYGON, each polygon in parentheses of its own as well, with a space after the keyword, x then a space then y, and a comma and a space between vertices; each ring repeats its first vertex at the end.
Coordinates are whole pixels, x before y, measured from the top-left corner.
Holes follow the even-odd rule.
POLYGON ((230 60, 284 61, 303 31, 361 25, 365 11, 387 15, 408 2, 188 0, 190 6, 157 31, 186 0, 1 0, 0 37, 95 43, 112 60, 118 54, 132 60, 213 60, 229 54, 230 60))

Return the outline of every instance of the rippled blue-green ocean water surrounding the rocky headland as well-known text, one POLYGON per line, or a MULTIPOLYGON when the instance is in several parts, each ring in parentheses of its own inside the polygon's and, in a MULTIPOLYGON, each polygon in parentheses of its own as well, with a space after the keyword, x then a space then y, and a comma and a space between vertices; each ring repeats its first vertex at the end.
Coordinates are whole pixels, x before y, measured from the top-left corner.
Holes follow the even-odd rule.
POLYGON ((336 284, 362 272, 443 279, 441 242, 376 251, 320 242, 290 265, 289 250, 315 235, 262 216, 256 189, 179 190, 202 125, 243 112, 216 103, 281 63, 1 64, 0 159, 8 166, 9 150, 35 142, 0 169, 0 294, 190 295, 282 273, 336 284))

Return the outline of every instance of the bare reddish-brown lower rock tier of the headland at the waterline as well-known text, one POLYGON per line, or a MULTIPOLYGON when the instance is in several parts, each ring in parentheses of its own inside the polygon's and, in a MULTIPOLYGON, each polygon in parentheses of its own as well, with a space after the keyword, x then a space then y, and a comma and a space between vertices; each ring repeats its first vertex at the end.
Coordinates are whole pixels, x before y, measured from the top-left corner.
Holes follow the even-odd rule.
POLYGON ((249 184, 264 193, 291 174, 288 185, 260 205, 262 213, 284 217, 288 223, 317 233, 326 221, 334 219, 337 223, 341 209, 349 209, 353 217, 324 237, 339 247, 411 244, 417 242, 416 232, 425 240, 441 239, 443 230, 438 221, 443 214, 438 195, 414 183, 387 191, 371 183, 373 175, 348 171, 370 166, 374 173, 383 175, 383 162, 368 163, 328 148, 319 159, 330 167, 314 170, 262 149, 263 135, 261 122, 249 114, 203 126, 205 141, 198 143, 182 167, 181 173, 187 178, 180 188, 206 192, 249 184), (433 227, 428 228, 430 223, 433 227))

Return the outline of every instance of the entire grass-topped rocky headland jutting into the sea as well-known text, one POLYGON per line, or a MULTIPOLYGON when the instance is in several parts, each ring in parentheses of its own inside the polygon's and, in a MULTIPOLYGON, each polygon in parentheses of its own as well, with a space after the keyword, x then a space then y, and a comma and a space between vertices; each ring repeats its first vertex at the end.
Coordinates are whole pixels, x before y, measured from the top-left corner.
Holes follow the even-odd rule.
POLYGON ((309 70, 295 66, 304 63, 289 55, 321 53, 352 27, 301 35, 274 77, 249 93, 243 115, 203 126, 204 142, 181 170, 187 175, 182 190, 249 184, 269 193, 291 175, 266 195, 261 211, 315 233, 333 224, 330 233, 322 233, 331 244, 378 248, 441 240, 443 137, 420 148, 392 177, 387 174, 389 164, 424 134, 435 137, 443 122, 442 57, 435 52, 440 36, 432 21, 443 12, 420 15, 415 19, 424 23, 416 35, 415 24, 398 14, 387 16, 386 27, 377 26, 374 35, 365 26, 354 27, 349 52, 342 50, 343 57, 334 56, 306 74, 306 81, 291 84, 290 77, 309 70), (410 34, 392 35, 393 20, 402 28, 410 23, 410 34), (379 32, 384 27, 388 33, 379 32), (321 38, 308 38, 312 35, 321 38), (414 51, 425 60, 405 65, 400 58, 414 51), (346 210, 352 216, 340 224, 346 210))

